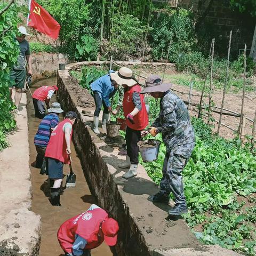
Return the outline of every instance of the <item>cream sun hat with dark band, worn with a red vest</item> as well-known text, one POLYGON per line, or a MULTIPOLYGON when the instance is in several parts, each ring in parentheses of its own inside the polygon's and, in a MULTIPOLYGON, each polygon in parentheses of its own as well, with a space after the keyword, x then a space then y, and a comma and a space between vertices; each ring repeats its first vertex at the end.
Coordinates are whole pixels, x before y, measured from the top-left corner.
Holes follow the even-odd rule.
POLYGON ((138 82, 133 79, 132 70, 130 68, 121 68, 119 71, 115 71, 114 73, 109 74, 111 79, 114 80, 117 84, 131 87, 138 82))

